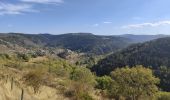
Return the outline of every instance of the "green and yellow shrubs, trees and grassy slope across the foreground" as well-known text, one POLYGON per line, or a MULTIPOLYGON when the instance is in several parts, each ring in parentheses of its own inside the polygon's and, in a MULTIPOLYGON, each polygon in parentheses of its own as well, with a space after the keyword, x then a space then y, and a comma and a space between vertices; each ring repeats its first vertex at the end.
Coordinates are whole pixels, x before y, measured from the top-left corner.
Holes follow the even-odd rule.
MULTIPOLYGON (((30 54, 0 55, 1 84, 10 80, 21 89, 39 94, 43 86, 57 90, 56 95, 71 100, 168 100, 170 95, 158 87, 160 80, 149 68, 118 68, 108 76, 98 77, 88 68, 68 63, 61 58, 30 54)), ((25 97, 26 98, 26 97, 25 97)))

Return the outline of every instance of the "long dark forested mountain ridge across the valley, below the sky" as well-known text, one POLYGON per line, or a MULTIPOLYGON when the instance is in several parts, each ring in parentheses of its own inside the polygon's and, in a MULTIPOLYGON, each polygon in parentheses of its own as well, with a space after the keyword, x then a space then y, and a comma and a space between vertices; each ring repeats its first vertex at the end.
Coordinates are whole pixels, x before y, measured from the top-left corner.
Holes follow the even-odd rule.
POLYGON ((24 48, 64 48, 77 52, 105 54, 117 51, 131 44, 127 38, 99 36, 91 33, 51 34, 0 34, 0 39, 24 48))

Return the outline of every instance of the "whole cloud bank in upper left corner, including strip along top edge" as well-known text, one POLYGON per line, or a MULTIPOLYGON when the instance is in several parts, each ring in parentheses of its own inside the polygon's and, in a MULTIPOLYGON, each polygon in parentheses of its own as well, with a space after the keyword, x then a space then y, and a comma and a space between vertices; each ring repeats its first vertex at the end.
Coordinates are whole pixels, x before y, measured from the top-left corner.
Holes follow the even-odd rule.
POLYGON ((18 0, 18 3, 13 4, 0 1, 0 15, 18 15, 28 12, 39 12, 34 8, 36 4, 59 4, 63 2, 63 0, 18 0))

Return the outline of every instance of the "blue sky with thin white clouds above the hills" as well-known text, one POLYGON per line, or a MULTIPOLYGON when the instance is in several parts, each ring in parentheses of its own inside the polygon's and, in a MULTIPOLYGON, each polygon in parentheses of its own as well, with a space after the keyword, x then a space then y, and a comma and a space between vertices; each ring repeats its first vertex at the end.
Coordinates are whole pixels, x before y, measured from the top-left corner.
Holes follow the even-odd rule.
POLYGON ((0 0, 0 32, 170 35, 170 0, 0 0))

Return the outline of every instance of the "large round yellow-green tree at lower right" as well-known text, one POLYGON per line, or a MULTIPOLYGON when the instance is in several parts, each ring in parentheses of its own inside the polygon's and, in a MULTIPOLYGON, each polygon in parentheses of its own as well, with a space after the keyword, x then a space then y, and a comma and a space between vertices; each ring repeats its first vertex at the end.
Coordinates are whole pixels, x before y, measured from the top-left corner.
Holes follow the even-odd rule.
POLYGON ((143 66, 118 68, 111 76, 114 80, 111 93, 116 92, 116 96, 138 100, 140 97, 152 97, 158 92, 156 84, 159 79, 153 76, 152 70, 143 66))

